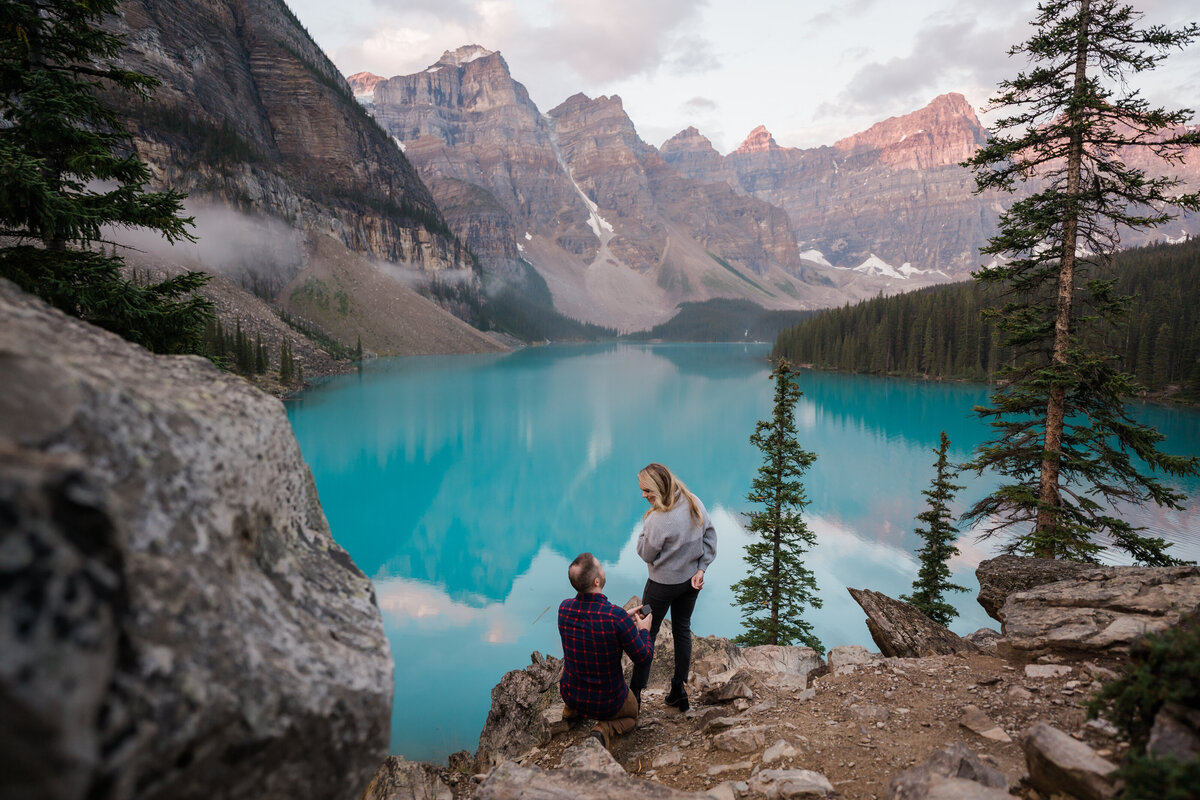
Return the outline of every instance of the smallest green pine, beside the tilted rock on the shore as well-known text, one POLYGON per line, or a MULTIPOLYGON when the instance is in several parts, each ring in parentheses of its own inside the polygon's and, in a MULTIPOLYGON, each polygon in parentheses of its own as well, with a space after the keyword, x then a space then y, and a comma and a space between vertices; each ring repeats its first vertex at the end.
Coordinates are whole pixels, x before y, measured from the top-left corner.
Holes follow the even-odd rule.
POLYGON ((947 463, 946 453, 949 449, 950 439, 942 431, 941 444, 934 451, 937 453, 934 482, 922 492, 929 500, 929 509, 917 515, 917 519, 925 523, 925 528, 918 527, 916 530, 925 542, 918 552, 920 570, 912 583, 912 594, 900 595, 900 600, 912 603, 938 625, 949 625, 959 615, 954 606, 942 600, 942 595, 946 591, 967 590, 966 587, 950 583, 950 567, 947 564, 959 554, 959 548, 954 546, 959 529, 950 523, 950 503, 954 493, 962 488, 953 482, 956 473, 947 463))

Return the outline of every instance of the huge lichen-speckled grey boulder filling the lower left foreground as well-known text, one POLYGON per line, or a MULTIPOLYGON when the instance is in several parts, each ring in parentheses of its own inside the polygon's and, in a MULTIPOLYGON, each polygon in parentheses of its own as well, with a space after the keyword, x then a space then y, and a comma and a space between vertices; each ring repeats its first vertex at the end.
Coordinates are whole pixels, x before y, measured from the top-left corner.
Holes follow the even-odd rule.
POLYGON ((391 656, 280 401, 0 281, 0 795, 358 798, 391 656))

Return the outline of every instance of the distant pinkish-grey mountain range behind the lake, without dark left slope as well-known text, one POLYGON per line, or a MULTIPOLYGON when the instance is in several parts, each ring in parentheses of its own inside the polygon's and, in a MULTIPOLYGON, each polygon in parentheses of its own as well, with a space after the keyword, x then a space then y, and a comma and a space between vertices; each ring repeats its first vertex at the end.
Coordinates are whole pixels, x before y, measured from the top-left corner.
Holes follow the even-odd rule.
MULTIPOLYGON (((829 146, 780 146, 758 127, 722 156, 695 127, 643 142, 616 96, 542 113, 478 44, 349 83, 493 281, 532 271, 554 309, 622 330, 680 302, 817 308, 966 277, 1013 199, 974 193, 960 164, 988 134, 958 94, 829 146)), ((1196 161, 1182 168, 1193 186, 1196 161)))

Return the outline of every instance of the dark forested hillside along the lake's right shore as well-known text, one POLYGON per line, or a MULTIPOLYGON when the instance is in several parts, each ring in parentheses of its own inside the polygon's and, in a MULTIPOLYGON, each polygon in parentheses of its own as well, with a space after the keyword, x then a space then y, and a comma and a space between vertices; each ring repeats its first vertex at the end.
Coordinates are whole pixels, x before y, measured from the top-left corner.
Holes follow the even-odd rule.
MULTIPOLYGON (((1130 295, 1128 324, 1090 335, 1148 391, 1200 399, 1200 240, 1126 251, 1111 277, 1130 295)), ((988 380, 1012 357, 982 318, 991 305, 973 281, 875 297, 782 331, 773 355, 820 369, 988 380)))

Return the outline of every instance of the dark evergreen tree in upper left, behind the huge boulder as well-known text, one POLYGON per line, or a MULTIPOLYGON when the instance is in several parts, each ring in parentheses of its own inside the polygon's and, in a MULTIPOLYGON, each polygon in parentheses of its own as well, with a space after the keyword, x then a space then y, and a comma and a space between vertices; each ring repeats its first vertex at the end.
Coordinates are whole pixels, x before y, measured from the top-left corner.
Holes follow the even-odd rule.
POLYGON ((0 0, 0 277, 160 353, 200 353, 211 303, 187 272, 148 285, 121 277, 102 228, 192 240, 184 196, 149 192, 150 170, 100 92, 146 98, 157 80, 116 66, 100 28, 116 0, 0 0))

